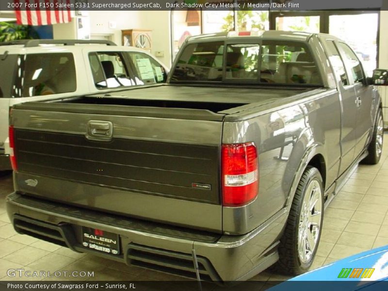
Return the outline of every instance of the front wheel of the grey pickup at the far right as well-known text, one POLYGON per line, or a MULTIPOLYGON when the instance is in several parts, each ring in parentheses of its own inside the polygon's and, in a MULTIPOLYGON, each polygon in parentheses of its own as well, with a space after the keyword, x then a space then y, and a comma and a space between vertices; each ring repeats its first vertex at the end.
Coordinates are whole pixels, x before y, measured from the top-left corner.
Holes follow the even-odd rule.
POLYGON ((377 112, 376 123, 373 127, 372 140, 368 146, 368 156, 361 161, 363 164, 375 165, 380 162, 383 152, 384 120, 381 108, 377 112))

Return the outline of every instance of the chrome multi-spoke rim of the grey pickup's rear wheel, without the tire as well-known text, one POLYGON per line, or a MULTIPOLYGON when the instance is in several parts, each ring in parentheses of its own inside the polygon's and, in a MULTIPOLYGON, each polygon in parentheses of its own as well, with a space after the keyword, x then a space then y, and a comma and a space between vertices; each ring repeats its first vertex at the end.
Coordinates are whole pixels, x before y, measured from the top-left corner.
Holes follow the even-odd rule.
POLYGON ((306 189, 298 228, 298 255, 302 263, 307 263, 314 254, 322 222, 321 185, 314 179, 306 189))

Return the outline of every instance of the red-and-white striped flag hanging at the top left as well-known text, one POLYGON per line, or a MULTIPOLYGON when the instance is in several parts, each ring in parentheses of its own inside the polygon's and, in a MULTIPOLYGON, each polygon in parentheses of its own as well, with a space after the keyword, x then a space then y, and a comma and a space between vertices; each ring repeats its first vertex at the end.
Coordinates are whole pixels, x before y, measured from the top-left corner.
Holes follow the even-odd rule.
POLYGON ((70 0, 14 0, 17 24, 48 25, 71 22, 70 0), (64 5, 66 4, 66 5, 64 5))

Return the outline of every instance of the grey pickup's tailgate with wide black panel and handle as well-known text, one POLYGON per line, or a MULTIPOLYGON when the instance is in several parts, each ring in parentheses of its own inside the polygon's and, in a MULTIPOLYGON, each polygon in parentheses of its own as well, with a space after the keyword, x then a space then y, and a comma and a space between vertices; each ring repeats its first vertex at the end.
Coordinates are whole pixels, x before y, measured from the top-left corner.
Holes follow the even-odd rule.
MULTIPOLYGON (((94 105, 89 105, 89 113, 75 113, 71 112, 74 104, 61 104, 61 112, 53 112, 49 104, 41 104, 37 105, 40 109, 29 108, 28 103, 18 105, 12 112, 16 179, 22 179, 17 191, 95 210, 222 231, 222 116, 220 120, 188 120, 96 114, 94 105), (97 134, 96 138, 91 133, 96 124, 97 131, 98 125, 111 124, 112 137, 100 139, 97 134)), ((185 109, 175 112, 179 110, 185 109)))

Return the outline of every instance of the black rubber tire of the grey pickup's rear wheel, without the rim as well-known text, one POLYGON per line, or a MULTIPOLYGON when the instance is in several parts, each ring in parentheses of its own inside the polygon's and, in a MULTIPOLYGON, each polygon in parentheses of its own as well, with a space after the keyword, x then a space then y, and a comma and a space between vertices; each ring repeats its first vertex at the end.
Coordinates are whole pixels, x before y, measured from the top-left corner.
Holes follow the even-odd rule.
POLYGON ((317 168, 307 166, 296 189, 286 227, 278 246, 279 260, 274 265, 274 269, 277 273, 284 275, 300 275, 305 273, 311 266, 319 246, 319 241, 321 239, 323 208, 324 204, 322 176, 317 168), (297 250, 299 216, 302 209, 302 201, 306 194, 307 185, 312 179, 317 179, 321 185, 322 221, 319 230, 320 232, 318 236, 318 242, 315 247, 314 253, 312 254, 311 259, 307 263, 302 263, 299 261, 297 250))

